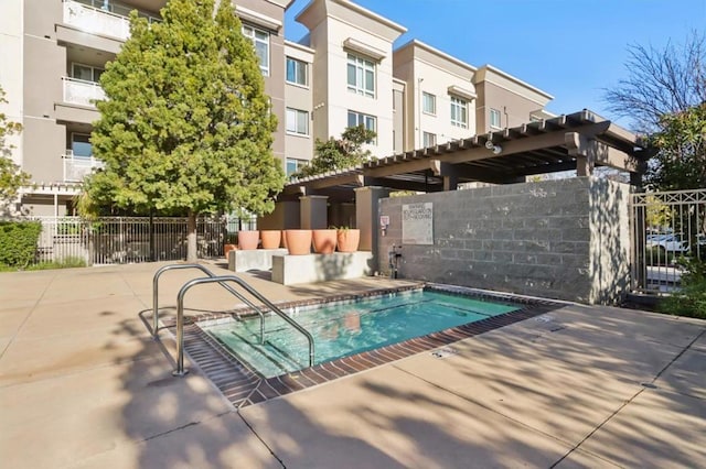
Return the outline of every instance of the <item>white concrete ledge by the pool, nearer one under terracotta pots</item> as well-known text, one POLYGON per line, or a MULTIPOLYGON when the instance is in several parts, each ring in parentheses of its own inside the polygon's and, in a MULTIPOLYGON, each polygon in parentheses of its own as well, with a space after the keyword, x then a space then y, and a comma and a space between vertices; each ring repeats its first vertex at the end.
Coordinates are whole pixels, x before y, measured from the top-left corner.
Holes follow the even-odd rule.
POLYGON ((332 254, 274 255, 272 282, 282 285, 360 279, 373 274, 368 251, 332 254))

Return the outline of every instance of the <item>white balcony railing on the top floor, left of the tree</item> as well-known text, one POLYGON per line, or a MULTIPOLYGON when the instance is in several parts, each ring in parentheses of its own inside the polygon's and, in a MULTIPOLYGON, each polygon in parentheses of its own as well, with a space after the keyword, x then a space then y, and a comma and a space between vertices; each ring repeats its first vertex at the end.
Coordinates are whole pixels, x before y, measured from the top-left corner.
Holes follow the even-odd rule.
POLYGON ((121 41, 130 37, 129 18, 73 0, 64 0, 64 23, 88 33, 116 37, 121 41))

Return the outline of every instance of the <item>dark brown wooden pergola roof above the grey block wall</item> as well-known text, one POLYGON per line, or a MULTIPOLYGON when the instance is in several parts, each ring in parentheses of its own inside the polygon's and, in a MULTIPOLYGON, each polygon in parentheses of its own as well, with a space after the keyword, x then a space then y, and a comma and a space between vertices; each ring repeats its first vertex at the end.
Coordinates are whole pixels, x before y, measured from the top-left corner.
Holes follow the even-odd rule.
POLYGON ((300 178, 290 182, 279 199, 323 195, 331 201, 352 200, 353 189, 365 186, 456 190, 462 183, 512 184, 570 170, 587 176, 597 166, 628 172, 631 184, 641 185, 648 157, 638 135, 582 110, 300 178))

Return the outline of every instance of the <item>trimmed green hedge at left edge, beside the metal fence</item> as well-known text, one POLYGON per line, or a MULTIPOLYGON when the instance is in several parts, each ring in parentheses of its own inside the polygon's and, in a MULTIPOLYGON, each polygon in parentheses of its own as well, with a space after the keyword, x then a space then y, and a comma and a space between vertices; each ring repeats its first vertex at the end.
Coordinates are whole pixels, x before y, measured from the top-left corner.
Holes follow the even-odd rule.
POLYGON ((0 264, 28 266, 34 260, 40 232, 39 221, 0 221, 0 264))

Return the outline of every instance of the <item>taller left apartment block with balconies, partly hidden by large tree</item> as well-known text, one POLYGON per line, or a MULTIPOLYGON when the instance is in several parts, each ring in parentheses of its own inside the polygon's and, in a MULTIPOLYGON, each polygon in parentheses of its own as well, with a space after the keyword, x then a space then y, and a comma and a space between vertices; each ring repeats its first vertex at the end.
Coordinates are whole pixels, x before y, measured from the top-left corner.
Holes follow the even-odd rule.
MULTIPOLYGON (((0 84, 8 116, 23 126, 13 159, 32 176, 21 204, 34 215, 72 212, 83 177, 100 162, 93 157, 94 100, 105 64, 130 34, 128 15, 137 10, 160 21, 167 0, 2 0, 0 36, 4 66, 0 84)), ((285 116, 285 10, 292 0, 238 0, 243 33, 260 59, 272 111, 285 116)), ((284 119, 280 119, 284 122, 284 119)), ((272 150, 285 161, 285 128, 272 150)))

